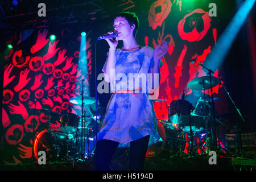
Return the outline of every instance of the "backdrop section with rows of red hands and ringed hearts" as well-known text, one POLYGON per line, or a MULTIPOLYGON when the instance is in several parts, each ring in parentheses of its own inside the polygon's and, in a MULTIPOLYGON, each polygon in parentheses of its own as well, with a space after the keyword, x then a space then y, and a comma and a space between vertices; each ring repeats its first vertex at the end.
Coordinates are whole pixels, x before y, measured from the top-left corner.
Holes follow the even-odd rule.
MULTIPOLYGON (((7 148, 14 146, 16 151, 11 150, 6 164, 23 163, 31 158, 33 135, 48 127, 52 131, 60 131, 62 118, 56 117, 55 123, 49 124, 49 114, 42 109, 59 114, 80 112, 69 100, 80 96, 81 80, 86 78, 89 82, 92 73, 90 69, 84 76, 78 68, 81 38, 79 34, 75 38, 70 37, 77 46, 68 50, 63 36, 53 42, 48 37, 45 29, 34 31, 26 38, 27 42, 16 42, 15 36, 9 41, 16 46, 5 57, 2 125, 7 148)), ((89 47, 86 51, 91 56, 90 39, 87 41, 89 47)), ((90 64, 91 60, 86 67, 91 68, 90 64)))

